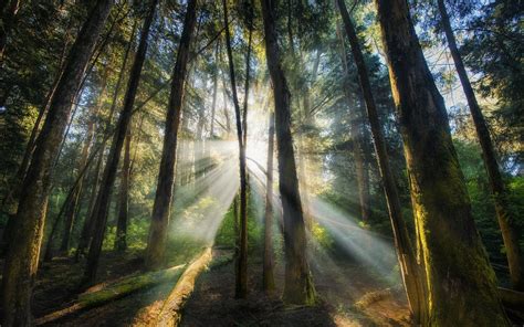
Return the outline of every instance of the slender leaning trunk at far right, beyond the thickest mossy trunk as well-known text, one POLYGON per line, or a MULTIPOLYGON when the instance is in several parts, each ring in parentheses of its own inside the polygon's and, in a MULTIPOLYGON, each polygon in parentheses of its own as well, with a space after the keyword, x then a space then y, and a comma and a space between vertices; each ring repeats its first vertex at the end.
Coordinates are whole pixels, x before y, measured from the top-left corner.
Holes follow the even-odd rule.
POLYGON ((491 192, 493 193, 493 199, 495 201, 496 217, 501 228, 504 247, 506 250, 513 288, 517 291, 524 291, 524 259, 522 249, 518 245, 518 228, 516 225, 517 219, 516 217, 513 217, 509 208, 507 190, 496 161, 496 154, 491 140, 488 123, 482 115, 482 110, 479 106, 479 103, 476 102, 473 87, 471 87, 470 78, 465 72, 464 63, 462 62, 459 48, 457 46, 457 41, 454 39, 453 30, 451 29, 450 19, 446 10, 446 3, 443 0, 438 0, 438 4, 451 56, 453 57, 457 74, 459 75, 460 83, 464 89, 465 98, 468 99, 468 106, 470 107, 471 116, 473 117, 473 124, 476 129, 476 136, 482 147, 482 157, 484 159, 484 166, 490 179, 491 192))

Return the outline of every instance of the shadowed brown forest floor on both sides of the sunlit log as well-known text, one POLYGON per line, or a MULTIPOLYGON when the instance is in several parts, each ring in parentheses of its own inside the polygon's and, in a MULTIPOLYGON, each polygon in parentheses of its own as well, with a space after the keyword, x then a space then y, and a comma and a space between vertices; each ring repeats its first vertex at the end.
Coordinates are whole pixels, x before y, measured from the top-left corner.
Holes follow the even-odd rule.
MULTIPOLYGON (((382 283, 366 273, 366 268, 340 260, 337 270, 328 265, 312 265, 318 305, 284 306, 277 297, 265 296, 261 289, 262 260, 252 255, 249 262, 247 299, 234 299, 231 251, 214 250, 211 268, 202 273, 182 312, 181 326, 409 326, 405 295, 384 288, 382 283), (348 284, 350 281, 350 285, 348 284)), ((181 260, 181 259, 179 259, 181 260)), ((333 263, 332 263, 333 264, 333 263)), ((71 306, 77 296, 83 263, 57 257, 39 271, 33 314, 42 317, 71 306)), ((122 254, 106 252, 101 262, 95 292, 138 274, 142 262, 138 252, 122 254)), ((283 265, 275 271, 276 295, 282 294, 283 265)), ((133 293, 103 306, 81 310, 46 326, 147 326, 158 315, 175 282, 133 293)))

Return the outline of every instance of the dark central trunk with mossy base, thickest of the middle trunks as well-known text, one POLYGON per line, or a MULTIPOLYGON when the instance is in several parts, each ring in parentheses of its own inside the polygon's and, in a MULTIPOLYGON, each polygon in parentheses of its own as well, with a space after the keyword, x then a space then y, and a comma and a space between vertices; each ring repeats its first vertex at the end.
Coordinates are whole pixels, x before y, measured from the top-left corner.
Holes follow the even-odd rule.
POLYGON ((261 0, 265 32, 265 55, 275 102, 280 192, 284 215, 285 285, 283 298, 291 304, 313 304, 315 287, 306 257, 306 233, 291 135, 291 94, 280 56, 274 8, 261 0))

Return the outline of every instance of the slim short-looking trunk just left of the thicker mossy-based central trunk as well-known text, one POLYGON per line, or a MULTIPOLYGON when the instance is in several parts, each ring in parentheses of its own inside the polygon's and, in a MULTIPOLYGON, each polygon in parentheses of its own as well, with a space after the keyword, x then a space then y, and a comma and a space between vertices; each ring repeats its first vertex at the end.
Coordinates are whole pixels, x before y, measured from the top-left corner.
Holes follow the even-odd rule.
POLYGON ((275 288, 273 272, 273 156, 275 138, 275 114, 271 112, 268 130, 268 165, 265 182, 265 220, 264 220, 264 264, 262 287, 266 293, 275 288))

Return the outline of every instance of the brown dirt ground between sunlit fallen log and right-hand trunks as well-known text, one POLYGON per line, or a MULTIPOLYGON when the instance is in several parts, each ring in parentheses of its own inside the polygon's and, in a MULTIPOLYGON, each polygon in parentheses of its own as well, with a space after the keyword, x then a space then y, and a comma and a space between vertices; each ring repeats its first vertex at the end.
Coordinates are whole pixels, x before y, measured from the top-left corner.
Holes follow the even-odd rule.
POLYGON ((249 263, 250 294, 247 299, 234 299, 233 264, 208 271, 197 282, 193 295, 184 310, 181 326, 410 325, 402 295, 379 289, 371 279, 365 281, 366 274, 361 267, 347 265, 339 270, 346 277, 355 277, 354 281, 359 283, 357 287, 342 285, 342 278, 321 273, 314 266, 312 270, 319 296, 318 305, 313 307, 284 306, 280 300, 284 277, 282 264, 277 264, 275 271, 276 296, 266 296, 260 292, 262 262, 259 257, 253 257, 249 263), (373 295, 373 299, 367 299, 363 307, 355 305, 366 294, 373 295))

